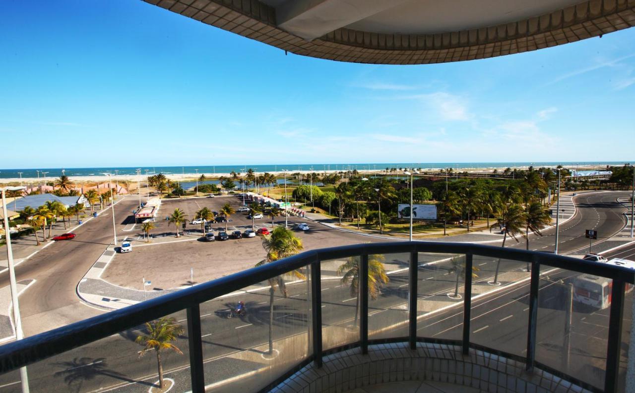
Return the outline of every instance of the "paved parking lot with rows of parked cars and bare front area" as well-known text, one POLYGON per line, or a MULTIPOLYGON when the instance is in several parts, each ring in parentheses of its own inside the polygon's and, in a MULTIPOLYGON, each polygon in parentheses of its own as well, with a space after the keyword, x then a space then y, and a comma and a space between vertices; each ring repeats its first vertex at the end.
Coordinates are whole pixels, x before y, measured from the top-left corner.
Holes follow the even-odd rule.
MULTIPOLYGON (((102 278, 115 285, 138 290, 143 289, 145 278, 152 281, 152 288, 168 289, 190 285, 190 269, 194 270, 194 283, 201 283, 253 267, 266 255, 262 248, 262 237, 205 242, 201 236, 201 226, 187 224, 186 231, 189 234, 176 238, 174 224, 168 226, 165 220, 177 208, 184 210, 187 218, 192 219, 196 211, 203 207, 220 211, 227 202, 234 209, 242 205, 242 200, 235 196, 164 200, 155 222, 157 228, 150 232, 158 237, 152 238, 151 243, 146 243, 143 236, 139 236, 140 229, 130 231, 128 238, 132 239, 132 252, 117 254, 102 278), (163 234, 166 236, 163 237, 163 234)), ((265 216, 255 222, 255 229, 266 227, 271 230, 270 217, 265 216)), ((308 231, 296 230, 305 250, 378 241, 328 228, 300 217, 288 217, 288 222, 291 229, 297 228, 297 224, 302 222, 309 225, 308 231)), ((284 217, 276 217, 275 224, 284 225, 284 217)), ((225 224, 213 224, 212 228, 218 235, 218 231, 225 229, 225 224)), ((247 213, 237 212, 229 217, 228 233, 246 229, 251 229, 251 219, 247 218, 247 213)))

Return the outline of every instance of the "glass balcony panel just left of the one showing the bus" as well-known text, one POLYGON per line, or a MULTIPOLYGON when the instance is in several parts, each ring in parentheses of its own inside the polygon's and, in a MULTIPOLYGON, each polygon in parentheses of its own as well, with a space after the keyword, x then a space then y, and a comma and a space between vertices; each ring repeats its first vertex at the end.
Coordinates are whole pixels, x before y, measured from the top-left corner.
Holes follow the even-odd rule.
POLYGON ((525 262, 474 255, 470 341, 526 356, 530 273, 525 262))

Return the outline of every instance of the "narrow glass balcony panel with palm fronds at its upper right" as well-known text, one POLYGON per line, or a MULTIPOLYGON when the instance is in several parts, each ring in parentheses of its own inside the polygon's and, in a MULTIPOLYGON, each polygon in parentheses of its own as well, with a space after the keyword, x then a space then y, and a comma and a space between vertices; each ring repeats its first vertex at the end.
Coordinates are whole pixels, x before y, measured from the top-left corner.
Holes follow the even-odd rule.
POLYGON ((359 264, 361 257, 321 262, 322 348, 359 341, 359 264))

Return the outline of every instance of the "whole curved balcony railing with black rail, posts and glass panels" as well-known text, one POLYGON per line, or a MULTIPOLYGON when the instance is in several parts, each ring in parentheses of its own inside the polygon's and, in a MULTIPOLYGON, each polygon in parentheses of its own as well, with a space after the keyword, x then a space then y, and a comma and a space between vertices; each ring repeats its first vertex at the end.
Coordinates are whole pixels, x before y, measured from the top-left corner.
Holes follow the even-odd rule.
POLYGON ((19 386, 15 370, 22 366, 36 369, 29 371, 32 390, 62 381, 84 383, 82 390, 149 385, 156 380, 152 359, 137 360, 133 338, 145 322, 185 311, 178 346, 189 356, 166 354, 164 366, 170 375, 189 370, 194 392, 266 391, 302 366, 321 366, 325 354, 352 347, 366 354, 369 344, 396 341, 411 349, 445 342, 461 345, 464 354, 490 351, 523 361, 527 371, 536 367, 592 391, 616 392, 626 361, 625 290, 633 283, 632 269, 486 245, 322 248, 3 345, 0 386, 19 386), (376 286, 382 266, 387 276, 376 286), (608 315, 574 304, 570 284, 585 275, 612 280, 608 315), (248 300, 247 316, 225 319, 239 299, 248 300), (107 370, 108 362, 120 370, 107 370))

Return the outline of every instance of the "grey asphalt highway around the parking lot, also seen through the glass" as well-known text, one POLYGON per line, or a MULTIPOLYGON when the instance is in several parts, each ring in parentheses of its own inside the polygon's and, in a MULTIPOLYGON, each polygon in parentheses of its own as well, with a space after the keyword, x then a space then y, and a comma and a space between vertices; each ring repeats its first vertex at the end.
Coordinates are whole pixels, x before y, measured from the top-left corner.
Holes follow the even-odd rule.
MULTIPOLYGON (((624 226, 624 219, 621 216, 624 208, 615 202, 617 196, 622 195, 617 193, 591 193, 577 196, 577 214, 560 228, 560 252, 584 254, 585 250, 579 251, 580 248, 588 247, 588 241, 584 238, 584 229, 598 230, 601 238, 606 238, 619 231, 624 226)), ((130 202, 124 200, 116 205, 116 211, 119 206, 121 206, 118 209, 119 212, 131 209, 131 207, 126 208, 124 203, 130 203, 131 206, 135 205, 133 200, 130 200, 130 202)), ((106 215, 106 217, 109 216, 106 215)), ((119 219, 118 215, 117 219, 119 219)), ((105 217, 100 217, 95 221, 97 223, 105 222, 105 227, 107 227, 108 223, 112 224, 105 217)), ((73 261, 71 259, 72 254, 76 254, 76 251, 81 251, 84 253, 81 257, 82 260, 95 261, 98 255, 103 252, 104 245, 109 242, 109 231, 97 225, 95 225, 94 229, 91 229, 90 226, 84 226, 82 229, 87 232, 86 235, 89 235, 89 231, 92 230, 104 233, 104 236, 95 238, 95 243, 84 243, 87 244, 84 246, 86 248, 73 244, 77 242, 68 242, 65 243, 64 247, 82 248, 66 250, 62 247, 49 247, 44 252, 50 252, 50 250, 60 252, 60 248, 62 248, 63 252, 69 255, 70 261, 73 261), (95 246, 94 250, 91 246, 95 246), (86 256, 86 253, 90 252, 94 252, 95 257, 86 256)), ((83 235, 82 238, 86 238, 86 235, 83 235)), ((548 229, 542 238, 531 236, 530 248, 552 250, 553 242, 554 229, 548 229)), ((516 243, 513 240, 508 240, 506 245, 508 247, 525 247, 523 241, 516 243)), ((635 248, 629 248, 627 251, 620 250, 620 252, 623 255, 616 255, 620 257, 631 256, 635 254, 635 248)), ((422 255, 420 261, 431 262, 445 259, 447 256, 436 255, 432 257, 430 255, 422 255)), ((408 262, 407 255, 391 254, 386 255, 386 259, 401 262, 404 266, 407 266, 408 262)), ((493 278, 493 270, 497 261, 475 258, 474 262, 475 266, 479 266, 480 269, 479 277, 475 279, 475 285, 485 285, 487 281, 491 281, 493 278)), ((75 261, 75 263, 78 264, 80 262, 75 261)), ((39 277, 44 276, 38 283, 42 285, 44 282, 46 285, 43 285, 40 290, 34 290, 37 287, 30 288, 29 291, 32 292, 32 297, 37 297, 37 295, 42 295, 43 293, 50 293, 51 298, 60 296, 59 293, 50 287, 51 285, 57 285, 58 290, 61 290, 64 294, 62 297, 67 297, 65 300, 22 300, 29 299, 27 297, 29 291, 27 291, 20 297, 20 300, 23 301, 22 304, 25 304, 22 307, 27 307, 28 305, 29 307, 36 307, 36 310, 44 310, 32 312, 29 317, 36 317, 37 314, 46 316, 46 312, 55 313, 66 310, 73 312, 76 311, 78 306, 88 308, 77 304, 74 291, 72 294, 68 293, 68 287, 64 287, 65 284, 72 282, 70 288, 74 288, 74 285, 79 281, 85 270, 72 269, 72 262, 65 263, 64 266, 67 267, 67 275, 79 274, 79 276, 64 277, 64 273, 57 273, 54 267, 46 266, 46 262, 29 263, 25 266, 20 266, 25 271, 17 269, 18 280, 22 276, 24 278, 33 278, 35 273, 39 274, 39 277), (30 267, 32 265, 40 267, 30 267), (47 274, 51 276, 50 280, 46 279, 47 274), (53 293, 55 293, 54 296, 52 295, 53 293)), ((501 264, 502 272, 522 271, 524 268, 525 264, 518 262, 501 264)), ((450 273, 449 269, 450 265, 448 262, 421 266, 418 277, 419 298, 441 295, 439 297, 448 299, 445 294, 451 292, 455 285, 455 276, 450 273)), ((559 278, 567 278, 570 275, 567 272, 555 272, 550 276, 550 280, 557 281, 559 278)), ((390 277, 391 280, 387 287, 382 290, 382 294, 376 300, 370 301, 370 338, 406 335, 403 322, 407 319, 406 308, 404 307, 408 295, 407 271, 391 273, 390 277), (400 323, 401 325, 399 325, 400 323), (388 329, 387 327, 390 328, 388 329)), ((551 281, 544 280, 544 283, 541 283, 541 308, 538 312, 540 318, 538 325, 540 348, 538 349, 537 360, 556 368, 562 368, 561 360, 557 354, 562 352, 561 337, 564 320, 564 298, 558 290, 558 285, 552 284, 551 281), (546 293, 546 295, 543 295, 543 293, 546 293), (542 300, 543 297, 545 300, 542 300), (560 351, 558 351, 558 345, 560 345, 560 351), (552 364, 554 362, 557 364, 552 364)), ((525 309, 528 307, 526 305, 527 292, 527 285, 518 285, 475 300, 472 306, 472 341, 502 351, 523 355, 526 345, 527 311, 525 309)), ((324 335, 325 339, 328 337, 328 340, 324 343, 324 348, 340 345, 341 343, 337 339, 348 340, 348 342, 354 341, 358 337, 358 332, 354 328, 357 304, 356 297, 351 295, 350 288, 347 285, 342 285, 338 280, 323 280, 322 297, 324 332, 337 332, 337 335, 334 334, 333 337, 324 335)), ((451 305, 452 302, 448 299, 447 304, 451 305)), ((462 303, 457 301, 454 304, 462 303)), ((301 359, 309 351, 308 348, 310 346, 307 341, 307 332, 310 326, 310 321, 307 318, 310 314, 309 305, 305 282, 288 285, 288 297, 283 297, 279 292, 275 293, 274 347, 280 348, 283 356, 276 356, 274 352, 274 358, 268 359, 266 346, 269 332, 269 290, 211 300, 202 304, 201 321, 203 323, 204 359, 206 359, 206 383, 236 377, 236 375, 241 375, 248 371, 256 373, 256 370, 262 369, 264 364, 272 366, 267 371, 267 380, 275 377, 277 373, 288 370, 290 364, 286 363, 287 361, 292 362, 293 359, 301 359), (241 318, 225 318, 227 310, 233 307, 237 300, 246 302, 248 314, 241 318)), ((81 307, 79 309, 82 309, 81 307)), ((627 304, 627 310, 629 309, 630 307, 627 304)), ((444 309, 443 312, 432 313, 430 316, 420 318, 418 326, 420 335, 424 337, 460 338, 462 330, 462 312, 460 311, 460 306, 449 307, 444 309)), ((576 338, 574 340, 572 338, 572 348, 579 351, 579 353, 589 354, 586 358, 576 358, 575 361, 572 361, 567 366, 570 367, 570 370, 573 370, 571 373, 575 377, 578 377, 577 374, 580 373, 580 367, 587 367, 585 364, 591 364, 591 366, 596 367, 596 361, 588 361, 589 358, 597 359, 603 356, 602 352, 605 354, 606 344, 602 344, 600 333, 603 326, 608 323, 607 315, 607 310, 589 311, 575 309, 573 332, 574 335, 579 335, 579 339, 576 338), (606 321, 603 318, 606 318, 606 321), (591 340, 589 337, 596 338, 591 340), (603 348, 603 351, 598 348, 603 348)), ((177 313, 175 318, 185 323, 184 312, 177 313)), ((630 325, 625 324, 625 326, 630 325)), ((141 359, 138 358, 140 347, 134 342, 137 334, 138 330, 123 332, 100 340, 100 342, 74 349, 56 358, 47 359, 29 366, 31 389, 33 391, 91 391, 104 389, 105 387, 118 387, 123 391, 134 391, 140 389, 139 383, 146 386, 145 389, 147 389, 149 383, 153 383, 156 380, 156 359, 152 354, 141 359)), ((182 391, 189 389, 187 338, 183 337, 178 340, 177 346, 184 354, 166 352, 163 356, 164 370, 168 371, 168 377, 177 381, 177 391, 182 391)), ((592 375, 592 373, 589 373, 589 375, 592 375)), ((248 389, 250 383, 257 382, 255 382, 255 379, 258 378, 244 378, 241 379, 239 384, 243 384, 244 389, 248 389)), ((18 380, 17 372, 0 376, 0 390, 19 391, 20 385, 15 383, 18 380)), ((597 380, 589 381, 589 383, 597 383, 597 380)), ((239 388, 240 386, 236 385, 236 383, 231 387, 232 390, 239 388)))

